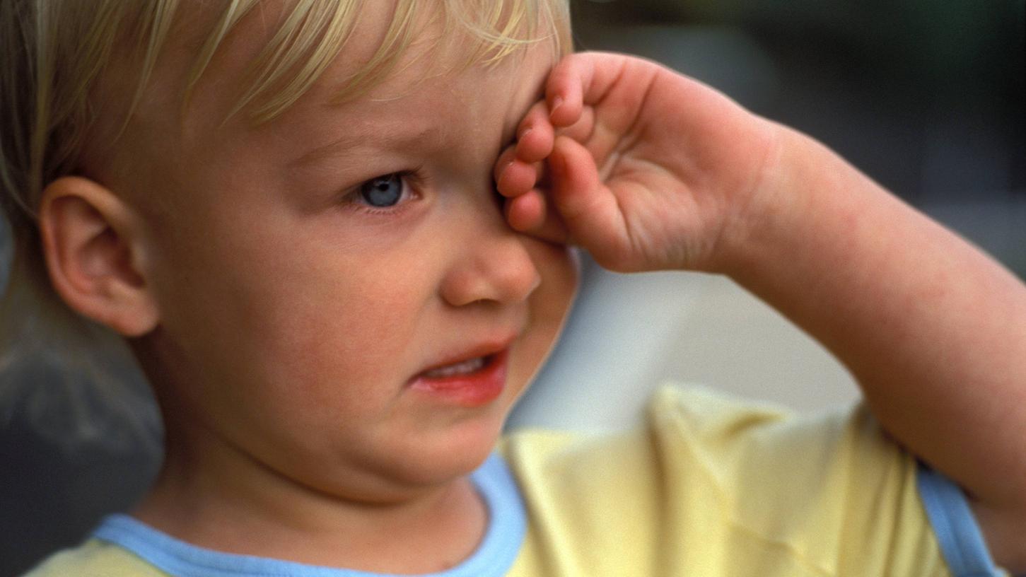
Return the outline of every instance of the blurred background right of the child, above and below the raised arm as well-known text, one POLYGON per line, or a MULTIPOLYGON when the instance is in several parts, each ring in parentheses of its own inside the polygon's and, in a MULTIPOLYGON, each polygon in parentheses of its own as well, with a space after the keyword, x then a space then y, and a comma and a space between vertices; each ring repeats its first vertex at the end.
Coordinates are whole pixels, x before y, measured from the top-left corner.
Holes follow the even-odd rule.
MULTIPOLYGON (((817 138, 1026 277, 1023 0, 571 8, 580 49, 649 57, 817 138)), ((510 426, 622 427, 667 380, 797 411, 858 398, 843 367, 731 280, 586 259, 564 337, 510 426)))

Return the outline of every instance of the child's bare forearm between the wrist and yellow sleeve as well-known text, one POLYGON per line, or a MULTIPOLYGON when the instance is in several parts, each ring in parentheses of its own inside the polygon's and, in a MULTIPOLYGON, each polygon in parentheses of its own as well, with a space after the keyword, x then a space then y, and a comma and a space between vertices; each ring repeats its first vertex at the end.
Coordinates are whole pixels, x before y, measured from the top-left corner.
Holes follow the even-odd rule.
POLYGON ((815 141, 783 139, 726 272, 827 346, 909 451, 1026 510, 1026 286, 815 141))

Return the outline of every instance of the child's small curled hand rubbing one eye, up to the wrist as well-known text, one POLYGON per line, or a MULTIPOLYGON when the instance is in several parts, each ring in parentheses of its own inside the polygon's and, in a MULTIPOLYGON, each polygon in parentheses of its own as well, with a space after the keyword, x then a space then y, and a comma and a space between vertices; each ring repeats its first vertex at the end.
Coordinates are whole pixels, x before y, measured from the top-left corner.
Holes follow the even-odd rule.
POLYGON ((618 271, 721 268, 775 158, 777 125, 637 57, 560 62, 496 165, 517 230, 618 271))

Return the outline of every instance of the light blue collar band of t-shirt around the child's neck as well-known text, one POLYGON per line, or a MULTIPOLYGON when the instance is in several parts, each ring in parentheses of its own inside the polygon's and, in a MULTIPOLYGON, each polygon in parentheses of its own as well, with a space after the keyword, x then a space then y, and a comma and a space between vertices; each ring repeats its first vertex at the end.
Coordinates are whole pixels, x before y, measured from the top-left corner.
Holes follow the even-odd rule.
MULTIPOLYGON (((527 527, 526 513, 506 462, 492 454, 470 478, 488 508, 484 539, 457 567, 425 577, 500 577, 509 572, 520 552, 527 527)), ((125 514, 106 517, 93 537, 128 549, 176 577, 389 577, 204 549, 125 514)))

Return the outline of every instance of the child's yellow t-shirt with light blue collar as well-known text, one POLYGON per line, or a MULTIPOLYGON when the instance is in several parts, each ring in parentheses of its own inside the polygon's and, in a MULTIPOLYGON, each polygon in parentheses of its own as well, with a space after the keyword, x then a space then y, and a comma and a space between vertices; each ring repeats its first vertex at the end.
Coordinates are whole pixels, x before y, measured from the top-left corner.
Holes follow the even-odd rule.
MULTIPOLYGON (((666 387, 634 430, 516 432, 500 453, 506 466, 498 465, 499 474, 512 474, 508 487, 515 488, 508 493, 517 510, 502 513, 509 535, 489 530, 486 555, 437 577, 951 575, 923 510, 914 459, 862 407, 794 417, 706 389, 666 387), (506 523, 517 515, 525 527, 519 534, 517 520, 506 523)), ((510 510, 489 499, 494 510, 510 510)), ((177 555, 170 563, 160 548, 169 537, 153 537, 156 548, 136 548, 131 539, 90 539, 30 575, 369 575, 181 542, 167 545, 177 555)))

